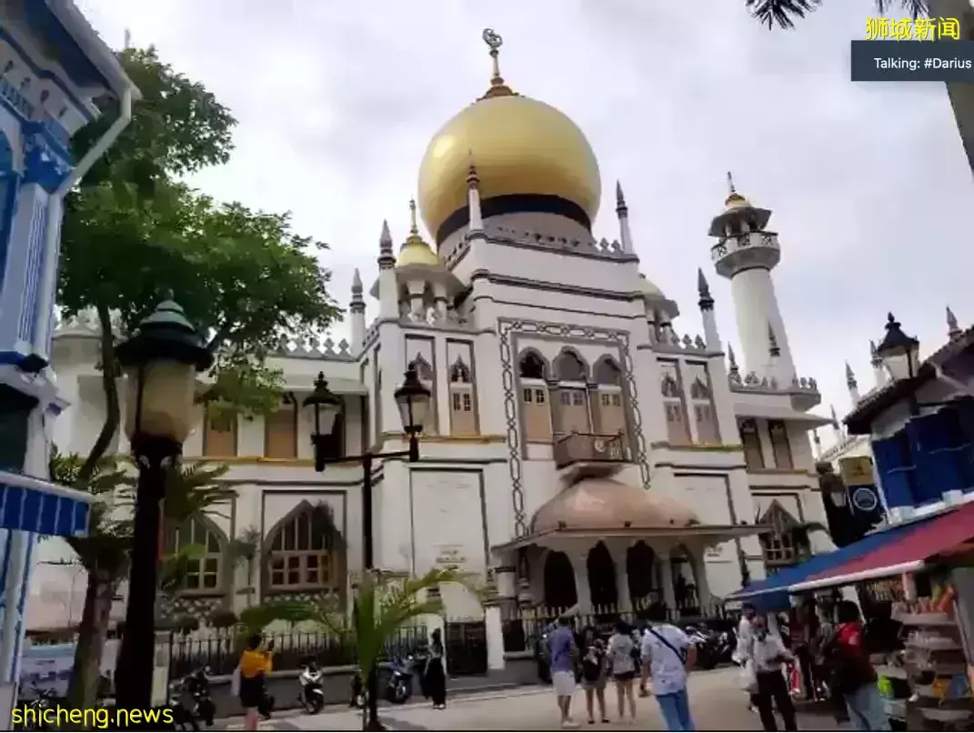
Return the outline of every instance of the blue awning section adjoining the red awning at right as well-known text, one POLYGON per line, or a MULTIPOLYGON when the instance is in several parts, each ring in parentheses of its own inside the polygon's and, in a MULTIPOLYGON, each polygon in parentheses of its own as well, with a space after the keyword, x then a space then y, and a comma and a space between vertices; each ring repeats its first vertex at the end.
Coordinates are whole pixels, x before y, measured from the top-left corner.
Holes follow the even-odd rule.
POLYGON ((837 568, 840 565, 868 552, 879 549, 888 542, 895 542, 909 531, 916 530, 921 524, 929 520, 899 525, 888 530, 867 534, 858 542, 840 547, 832 552, 813 555, 802 565, 783 568, 763 580, 757 580, 736 593, 728 596, 727 601, 746 601, 762 612, 787 610, 791 602, 788 588, 803 582, 805 579, 823 570, 837 568))

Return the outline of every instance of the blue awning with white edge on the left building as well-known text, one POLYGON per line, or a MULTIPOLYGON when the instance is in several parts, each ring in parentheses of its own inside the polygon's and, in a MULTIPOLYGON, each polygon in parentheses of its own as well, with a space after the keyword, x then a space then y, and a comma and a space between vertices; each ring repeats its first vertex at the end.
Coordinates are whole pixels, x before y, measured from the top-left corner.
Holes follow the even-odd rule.
POLYGON ((88 533, 92 495, 0 471, 0 529, 59 537, 88 533))

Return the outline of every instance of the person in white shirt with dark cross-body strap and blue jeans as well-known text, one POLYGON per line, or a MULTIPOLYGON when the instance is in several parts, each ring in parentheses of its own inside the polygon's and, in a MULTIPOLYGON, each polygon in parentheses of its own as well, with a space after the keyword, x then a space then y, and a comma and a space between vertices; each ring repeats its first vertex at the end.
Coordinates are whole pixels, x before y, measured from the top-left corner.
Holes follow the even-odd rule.
POLYGON ((650 618, 655 622, 643 636, 643 668, 649 669, 667 730, 696 730, 690 713, 687 672, 696 661, 696 646, 683 629, 665 623, 662 609, 650 618))

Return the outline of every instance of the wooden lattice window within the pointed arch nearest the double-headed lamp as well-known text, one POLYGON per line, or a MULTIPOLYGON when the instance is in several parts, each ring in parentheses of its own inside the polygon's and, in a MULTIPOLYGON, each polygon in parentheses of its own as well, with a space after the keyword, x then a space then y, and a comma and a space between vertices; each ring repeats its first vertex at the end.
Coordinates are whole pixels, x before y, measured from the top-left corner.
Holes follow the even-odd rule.
POLYGON ((287 518, 271 543, 269 577, 272 590, 340 592, 343 544, 331 512, 309 506, 287 518))

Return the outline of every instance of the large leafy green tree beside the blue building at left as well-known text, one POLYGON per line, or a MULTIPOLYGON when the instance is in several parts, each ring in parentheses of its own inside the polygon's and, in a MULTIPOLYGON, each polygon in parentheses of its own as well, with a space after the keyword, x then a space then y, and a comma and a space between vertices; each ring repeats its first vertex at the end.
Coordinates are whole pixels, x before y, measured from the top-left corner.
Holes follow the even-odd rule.
MULTIPOLYGON (((286 214, 213 202, 179 181, 229 160, 230 112, 151 48, 120 58, 142 101, 117 143, 68 196, 61 228, 58 304, 66 316, 93 309, 100 325, 105 421, 68 482, 86 491, 103 472, 120 425, 116 340, 131 334, 167 291, 216 357, 206 399, 244 415, 266 413, 280 399, 281 374, 267 367, 267 354, 282 339, 320 333, 340 317, 327 293, 328 272, 318 265, 323 244, 292 232, 286 214)), ((106 115, 85 128, 74 140, 75 154, 83 155, 112 122, 106 115)), ((183 518, 190 516, 183 509, 203 508, 204 496, 170 492, 168 518, 177 519, 177 504, 183 518)), ((77 707, 94 699, 108 609, 128 572, 131 545, 125 522, 93 522, 90 532, 82 564, 94 572, 70 689, 77 707)))

